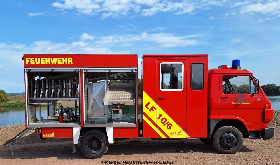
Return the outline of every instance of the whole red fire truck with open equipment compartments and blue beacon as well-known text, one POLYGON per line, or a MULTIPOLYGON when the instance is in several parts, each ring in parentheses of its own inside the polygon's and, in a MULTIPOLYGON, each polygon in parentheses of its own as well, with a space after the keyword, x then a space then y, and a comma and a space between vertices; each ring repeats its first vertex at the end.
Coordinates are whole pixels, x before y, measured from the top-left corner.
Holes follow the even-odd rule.
POLYGON ((21 134, 36 128, 41 140, 73 138, 74 152, 80 139, 88 158, 125 138, 199 138, 235 153, 244 138, 273 137, 271 103, 239 60, 208 70, 208 55, 143 55, 138 81, 137 59, 24 55, 21 134))

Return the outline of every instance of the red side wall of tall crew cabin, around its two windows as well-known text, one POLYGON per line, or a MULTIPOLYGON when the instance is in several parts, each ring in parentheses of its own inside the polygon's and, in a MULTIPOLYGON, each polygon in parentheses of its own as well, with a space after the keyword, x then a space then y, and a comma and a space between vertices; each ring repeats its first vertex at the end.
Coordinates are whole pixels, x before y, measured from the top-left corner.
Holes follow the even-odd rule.
MULTIPOLYGON (((151 100, 157 103, 153 107, 143 97, 143 137, 144 138, 172 138, 172 133, 164 130, 162 124, 169 119, 178 125, 178 131, 186 131, 186 137, 207 136, 207 55, 143 55, 143 93, 146 93, 151 100), (183 89, 182 90, 161 90, 160 89, 160 64, 162 62, 183 64, 183 89), (204 64, 204 89, 192 90, 190 88, 191 64, 204 64), (164 98, 164 99, 162 99, 164 98), (147 102, 147 103, 146 103, 147 102), (146 103, 146 105, 145 105, 146 103), (145 113, 145 109, 148 110, 145 113), (154 115, 150 111, 156 111, 154 115), (161 121, 161 112, 168 117, 161 121), (145 121, 147 119, 149 124, 145 121), (156 118, 156 119, 153 119, 156 118), (160 118, 160 119, 158 119, 160 118), (151 128, 155 126, 156 131, 151 128)), ((173 124, 172 123, 172 124, 173 124)), ((174 125, 174 124, 173 124, 174 125)), ((175 132, 177 133, 177 132, 175 132)), ((180 136, 181 137, 181 136, 180 136)))

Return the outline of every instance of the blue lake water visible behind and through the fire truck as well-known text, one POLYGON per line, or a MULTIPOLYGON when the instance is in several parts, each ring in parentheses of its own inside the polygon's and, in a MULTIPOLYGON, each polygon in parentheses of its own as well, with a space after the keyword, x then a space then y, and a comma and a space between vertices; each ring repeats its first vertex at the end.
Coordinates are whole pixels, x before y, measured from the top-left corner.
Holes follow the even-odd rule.
MULTIPOLYGON (((272 108, 274 110, 280 110, 280 96, 270 96, 268 97, 272 108)), ((36 114, 39 112, 36 111, 36 114)), ((42 109, 41 111, 42 117, 46 118, 47 110, 42 109)), ((138 115, 139 116, 139 115, 138 115)), ((132 109, 123 109, 122 114, 114 112, 112 114, 112 118, 119 118, 119 117, 134 117, 132 109)), ((7 126, 7 125, 15 125, 15 124, 24 124, 24 108, 3 108, 0 107, 0 126, 7 126)))

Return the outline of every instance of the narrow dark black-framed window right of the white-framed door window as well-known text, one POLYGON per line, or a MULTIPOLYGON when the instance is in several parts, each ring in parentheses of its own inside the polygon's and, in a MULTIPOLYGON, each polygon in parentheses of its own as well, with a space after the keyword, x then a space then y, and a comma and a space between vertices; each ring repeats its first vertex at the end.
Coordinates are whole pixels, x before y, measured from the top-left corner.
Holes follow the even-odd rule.
POLYGON ((191 89, 202 90, 204 88, 204 64, 193 63, 191 65, 191 89))

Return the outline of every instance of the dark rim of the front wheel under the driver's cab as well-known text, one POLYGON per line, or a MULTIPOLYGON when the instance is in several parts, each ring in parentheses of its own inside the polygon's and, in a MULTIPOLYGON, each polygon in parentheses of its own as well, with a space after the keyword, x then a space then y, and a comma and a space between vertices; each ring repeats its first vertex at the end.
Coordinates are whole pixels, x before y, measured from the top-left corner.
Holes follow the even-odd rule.
POLYGON ((234 148, 237 145, 237 142, 238 138, 232 132, 226 132, 220 136, 220 146, 227 150, 234 148))

